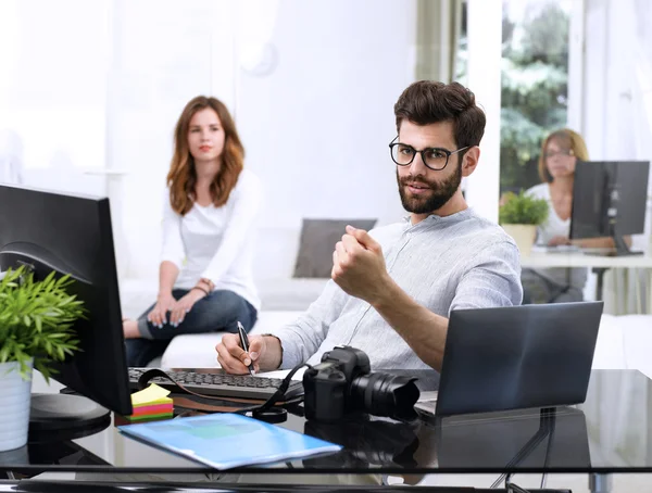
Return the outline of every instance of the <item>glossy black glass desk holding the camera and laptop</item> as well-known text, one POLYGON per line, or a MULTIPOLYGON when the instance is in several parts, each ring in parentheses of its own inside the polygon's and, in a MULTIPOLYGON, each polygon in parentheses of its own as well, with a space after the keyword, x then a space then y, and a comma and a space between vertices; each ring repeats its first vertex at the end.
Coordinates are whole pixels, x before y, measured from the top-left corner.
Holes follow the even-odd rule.
MULTIPOLYGON (((45 471, 163 477, 208 473, 206 478, 218 472, 122 435, 115 419, 120 420, 114 416, 102 430, 89 430, 95 431, 89 437, 29 443, 0 453, 0 471, 21 478, 45 471)), ((344 448, 228 472, 241 477, 581 472, 593 475, 594 491, 606 491, 599 490, 605 488, 603 475, 652 472, 652 381, 637 370, 593 370, 587 400, 577 406, 422 416, 409 424, 369 416, 337 424, 312 422, 297 407, 279 426, 344 448)))

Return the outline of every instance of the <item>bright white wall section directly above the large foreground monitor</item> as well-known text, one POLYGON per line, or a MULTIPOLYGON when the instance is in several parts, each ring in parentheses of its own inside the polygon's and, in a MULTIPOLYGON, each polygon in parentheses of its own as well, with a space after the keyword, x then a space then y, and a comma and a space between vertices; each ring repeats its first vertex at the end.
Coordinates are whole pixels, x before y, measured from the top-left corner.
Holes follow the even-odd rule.
POLYGON ((104 191, 84 172, 104 166, 108 5, 0 2, 0 160, 13 154, 30 186, 104 191))

